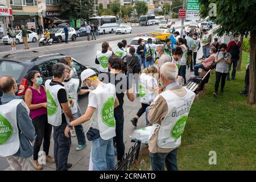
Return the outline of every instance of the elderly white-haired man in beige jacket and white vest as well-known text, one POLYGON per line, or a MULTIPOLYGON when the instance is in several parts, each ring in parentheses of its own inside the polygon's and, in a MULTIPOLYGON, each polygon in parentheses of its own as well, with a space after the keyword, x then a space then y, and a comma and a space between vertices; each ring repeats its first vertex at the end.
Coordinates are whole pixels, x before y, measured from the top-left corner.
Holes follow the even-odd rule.
POLYGON ((177 148, 181 144, 189 110, 195 93, 177 82, 178 68, 174 63, 164 63, 160 68, 159 94, 148 110, 148 121, 153 124, 148 143, 151 169, 176 171, 177 148))

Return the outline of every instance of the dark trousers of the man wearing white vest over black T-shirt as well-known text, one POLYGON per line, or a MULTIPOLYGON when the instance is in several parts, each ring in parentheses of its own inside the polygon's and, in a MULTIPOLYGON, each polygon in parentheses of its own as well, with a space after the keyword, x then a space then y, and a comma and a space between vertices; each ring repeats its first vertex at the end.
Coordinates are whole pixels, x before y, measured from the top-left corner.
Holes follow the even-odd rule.
POLYGON ((60 126, 53 126, 56 171, 68 171, 67 163, 70 145, 68 138, 64 134, 66 127, 67 123, 61 123, 60 126))

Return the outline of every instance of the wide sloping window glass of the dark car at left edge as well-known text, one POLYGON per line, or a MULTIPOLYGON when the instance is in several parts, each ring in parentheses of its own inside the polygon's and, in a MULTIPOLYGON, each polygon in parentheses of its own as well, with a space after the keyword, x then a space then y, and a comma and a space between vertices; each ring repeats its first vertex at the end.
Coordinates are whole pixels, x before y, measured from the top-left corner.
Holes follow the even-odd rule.
POLYGON ((24 66, 21 64, 10 61, 0 61, 0 77, 10 75, 11 73, 11 76, 13 76, 15 80, 18 80, 23 71, 24 66))

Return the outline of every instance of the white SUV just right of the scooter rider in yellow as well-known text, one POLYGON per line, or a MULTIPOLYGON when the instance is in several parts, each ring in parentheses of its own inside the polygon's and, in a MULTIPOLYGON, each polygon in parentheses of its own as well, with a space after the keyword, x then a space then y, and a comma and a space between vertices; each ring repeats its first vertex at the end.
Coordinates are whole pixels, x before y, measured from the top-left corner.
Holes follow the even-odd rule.
MULTIPOLYGON (((64 28, 51 28, 49 32, 55 34, 55 37, 53 37, 54 41, 60 43, 65 40, 64 28)), ((76 30, 74 28, 68 28, 68 39, 76 40, 76 30)))

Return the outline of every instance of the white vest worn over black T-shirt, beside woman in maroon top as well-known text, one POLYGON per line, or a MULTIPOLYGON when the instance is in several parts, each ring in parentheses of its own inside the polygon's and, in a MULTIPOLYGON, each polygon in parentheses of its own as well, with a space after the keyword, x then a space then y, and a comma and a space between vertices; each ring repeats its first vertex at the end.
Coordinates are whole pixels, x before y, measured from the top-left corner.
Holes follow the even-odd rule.
POLYGON ((45 83, 46 96, 47 96, 48 123, 51 124, 52 126, 60 126, 62 121, 61 114, 63 113, 63 110, 61 109, 57 94, 60 89, 65 89, 65 88, 64 86, 61 86, 59 84, 50 86, 49 85, 50 82, 51 80, 46 80, 46 83, 45 83))

